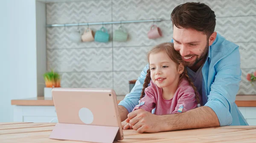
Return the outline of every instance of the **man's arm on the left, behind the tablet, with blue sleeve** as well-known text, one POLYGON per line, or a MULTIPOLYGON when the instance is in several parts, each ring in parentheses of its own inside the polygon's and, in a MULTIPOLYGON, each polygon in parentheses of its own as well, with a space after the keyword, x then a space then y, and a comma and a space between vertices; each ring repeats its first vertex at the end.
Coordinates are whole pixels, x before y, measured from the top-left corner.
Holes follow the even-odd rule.
POLYGON ((118 111, 121 121, 124 121, 127 118, 128 113, 131 112, 138 104, 148 68, 149 67, 147 64, 141 72, 140 77, 137 79, 131 93, 125 95, 125 98, 118 104, 118 111))

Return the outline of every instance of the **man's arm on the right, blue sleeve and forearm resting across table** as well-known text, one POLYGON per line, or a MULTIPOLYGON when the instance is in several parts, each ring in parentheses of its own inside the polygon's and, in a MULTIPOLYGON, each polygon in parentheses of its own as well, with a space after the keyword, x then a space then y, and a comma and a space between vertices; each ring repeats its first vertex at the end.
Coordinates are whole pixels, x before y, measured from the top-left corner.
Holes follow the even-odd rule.
POLYGON ((238 47, 226 58, 221 59, 215 70, 217 74, 204 107, 181 114, 162 116, 149 115, 143 110, 138 110, 128 114, 130 124, 135 130, 138 129, 137 132, 161 132, 230 125, 233 121, 230 111, 241 81, 238 47))

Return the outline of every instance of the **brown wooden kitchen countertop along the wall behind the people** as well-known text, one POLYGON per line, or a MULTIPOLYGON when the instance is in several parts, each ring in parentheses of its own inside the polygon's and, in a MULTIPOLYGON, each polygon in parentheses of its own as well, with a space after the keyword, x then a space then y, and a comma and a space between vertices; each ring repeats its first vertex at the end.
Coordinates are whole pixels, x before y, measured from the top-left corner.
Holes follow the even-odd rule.
MULTIPOLYGON (((116 96, 119 103, 125 96, 116 96)), ((23 106, 54 106, 52 98, 26 98, 15 99, 11 101, 12 105, 23 106)), ((256 95, 236 95, 236 105, 238 107, 256 107, 256 95)))

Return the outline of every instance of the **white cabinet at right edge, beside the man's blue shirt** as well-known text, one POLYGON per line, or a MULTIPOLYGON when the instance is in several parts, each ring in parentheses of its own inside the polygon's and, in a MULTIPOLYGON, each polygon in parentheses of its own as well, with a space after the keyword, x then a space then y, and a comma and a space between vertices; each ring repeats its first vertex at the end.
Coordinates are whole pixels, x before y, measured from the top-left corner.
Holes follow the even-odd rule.
POLYGON ((256 126, 256 107, 238 107, 247 123, 256 126))

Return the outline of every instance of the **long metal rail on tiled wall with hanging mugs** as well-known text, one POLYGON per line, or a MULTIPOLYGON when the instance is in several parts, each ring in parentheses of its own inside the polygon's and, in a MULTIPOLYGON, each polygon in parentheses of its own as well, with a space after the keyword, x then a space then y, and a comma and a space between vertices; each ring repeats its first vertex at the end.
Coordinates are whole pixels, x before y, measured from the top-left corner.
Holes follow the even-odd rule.
POLYGON ((161 19, 154 20, 131 20, 131 21, 113 21, 113 22, 90 22, 90 23, 70 23, 70 24, 47 24, 47 27, 59 27, 59 26, 81 26, 81 25, 104 25, 104 24, 122 24, 122 23, 137 23, 137 22, 160 22, 161 19))

